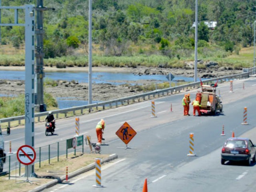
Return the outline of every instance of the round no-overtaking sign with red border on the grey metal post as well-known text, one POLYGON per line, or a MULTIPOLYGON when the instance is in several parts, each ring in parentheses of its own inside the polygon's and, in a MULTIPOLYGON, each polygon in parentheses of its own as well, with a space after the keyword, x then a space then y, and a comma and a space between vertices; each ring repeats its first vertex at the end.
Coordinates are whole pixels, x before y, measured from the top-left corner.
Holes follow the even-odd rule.
POLYGON ((17 150, 17 159, 21 164, 30 165, 36 159, 36 152, 34 148, 29 145, 22 145, 17 150))

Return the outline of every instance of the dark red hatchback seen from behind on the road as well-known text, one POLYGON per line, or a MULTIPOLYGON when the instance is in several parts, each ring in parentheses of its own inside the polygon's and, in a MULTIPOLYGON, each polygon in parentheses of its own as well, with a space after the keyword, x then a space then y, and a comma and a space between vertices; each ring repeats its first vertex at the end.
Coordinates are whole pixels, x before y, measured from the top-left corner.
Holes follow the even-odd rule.
POLYGON ((221 164, 226 161, 244 161, 247 166, 256 161, 256 145, 249 138, 228 138, 221 151, 221 164))

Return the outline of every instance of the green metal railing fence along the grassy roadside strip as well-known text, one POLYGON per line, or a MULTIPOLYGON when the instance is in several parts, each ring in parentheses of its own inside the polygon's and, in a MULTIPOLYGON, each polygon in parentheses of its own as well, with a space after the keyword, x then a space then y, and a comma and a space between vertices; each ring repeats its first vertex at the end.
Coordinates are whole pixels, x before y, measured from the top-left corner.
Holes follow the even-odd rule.
MULTIPOLYGON (((41 163, 44 161, 48 161, 50 164, 53 158, 57 158, 59 161, 60 156, 63 155, 66 155, 66 158, 68 158, 68 155, 70 154, 76 155, 78 152, 84 153, 84 135, 78 136, 76 138, 76 148, 73 148, 72 141, 73 138, 70 138, 64 141, 55 142, 46 146, 35 148, 35 166, 41 167, 41 163)), ((0 165, 2 160, 4 160, 4 158, 0 158, 0 165)), ((21 164, 17 159, 17 154, 11 154, 5 158, 5 163, 3 164, 3 172, 8 173, 10 179, 12 174, 20 176, 22 174, 21 170, 23 167, 24 165, 21 164)))

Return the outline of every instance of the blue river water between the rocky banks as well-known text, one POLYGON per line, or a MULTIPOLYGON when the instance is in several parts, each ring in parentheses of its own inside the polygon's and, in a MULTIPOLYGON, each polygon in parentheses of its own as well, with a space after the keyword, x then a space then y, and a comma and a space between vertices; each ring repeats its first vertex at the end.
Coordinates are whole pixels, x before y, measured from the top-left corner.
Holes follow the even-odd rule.
MULTIPOLYGON (((78 81, 88 83, 88 72, 46 72, 46 78, 52 80, 78 81)), ((0 70, 0 79, 4 80, 25 80, 25 71, 0 70)), ((114 72, 92 72, 92 83, 110 83, 124 84, 122 80, 156 80, 158 82, 166 82, 166 75, 134 75, 132 73, 114 73, 114 72), (118 82, 115 82, 118 81, 118 82), (121 82, 120 82, 121 81, 121 82)), ((194 78, 175 76, 173 82, 184 80, 185 82, 193 82, 194 78)), ((202 79, 204 80, 204 79, 202 79)), ((0 95, 1 96, 1 95, 0 95)), ((2 95, 4 96, 4 95, 2 95)), ((72 106, 82 106, 88 104, 87 101, 73 100, 74 98, 56 98, 60 109, 72 106), (71 99, 71 100, 70 100, 71 99)), ((93 101, 93 103, 100 101, 93 101)))

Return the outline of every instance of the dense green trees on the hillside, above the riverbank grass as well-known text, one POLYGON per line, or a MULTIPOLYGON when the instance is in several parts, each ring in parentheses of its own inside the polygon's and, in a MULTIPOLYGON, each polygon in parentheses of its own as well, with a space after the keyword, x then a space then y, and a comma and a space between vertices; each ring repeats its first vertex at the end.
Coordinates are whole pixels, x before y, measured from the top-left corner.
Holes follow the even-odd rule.
MULTIPOLYGON (((29 1, 33 3, 33 1, 29 1)), ((188 57, 194 48, 194 0, 92 0, 93 42, 105 55, 152 54, 188 57), (132 49, 138 46, 140 49, 132 49), (144 48, 151 47, 151 48, 144 48)), ((2 0, 2 6, 20 6, 28 0, 2 0)), ((34 0, 36 4, 36 0, 34 0)), ((50 0, 44 12, 46 58, 67 54, 68 47, 88 45, 88 0, 50 0)), ((198 47, 219 46, 232 52, 253 42, 256 0, 198 0, 198 47), (204 21, 216 21, 214 30, 204 21)), ((13 20, 2 11, 2 22, 13 20)), ((21 14, 22 16, 22 14, 21 14)), ((23 20, 23 18, 20 18, 23 20)), ((24 42, 20 27, 1 27, 2 44, 19 48, 24 42)), ((87 49, 85 49, 87 50, 87 49)))

